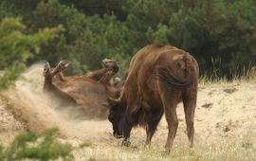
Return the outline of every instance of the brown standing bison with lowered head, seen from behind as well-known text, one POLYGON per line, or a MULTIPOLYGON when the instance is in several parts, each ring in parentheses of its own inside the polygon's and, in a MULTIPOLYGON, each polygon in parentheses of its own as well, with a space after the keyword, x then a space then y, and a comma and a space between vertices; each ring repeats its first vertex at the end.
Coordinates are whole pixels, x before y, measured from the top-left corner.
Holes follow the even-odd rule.
POLYGON ((178 119, 176 105, 183 101, 190 146, 193 146, 193 117, 197 95, 198 64, 192 55, 171 45, 147 45, 133 57, 119 99, 108 99, 108 119, 114 135, 129 146, 133 127, 146 128, 150 144, 165 113, 168 123, 166 150, 170 152, 178 119))

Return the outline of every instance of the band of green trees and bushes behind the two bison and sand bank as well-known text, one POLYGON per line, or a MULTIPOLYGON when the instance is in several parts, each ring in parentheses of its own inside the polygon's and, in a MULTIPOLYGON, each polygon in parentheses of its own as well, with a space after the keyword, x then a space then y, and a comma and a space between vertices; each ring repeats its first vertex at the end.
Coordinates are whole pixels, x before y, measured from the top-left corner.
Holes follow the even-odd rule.
POLYGON ((144 45, 192 53, 210 80, 246 77, 256 63, 255 0, 1 0, 0 80, 32 63, 72 62, 69 74, 109 57, 120 75, 144 45))

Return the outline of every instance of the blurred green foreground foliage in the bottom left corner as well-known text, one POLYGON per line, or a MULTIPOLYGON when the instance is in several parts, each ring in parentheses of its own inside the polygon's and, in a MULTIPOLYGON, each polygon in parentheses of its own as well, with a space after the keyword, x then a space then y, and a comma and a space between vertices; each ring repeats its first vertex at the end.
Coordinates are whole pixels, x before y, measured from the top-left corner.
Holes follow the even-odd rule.
POLYGON ((0 160, 33 159, 40 161, 73 160, 74 147, 67 143, 60 143, 55 138, 58 129, 49 129, 46 134, 39 135, 33 132, 19 134, 8 148, 0 147, 0 160))

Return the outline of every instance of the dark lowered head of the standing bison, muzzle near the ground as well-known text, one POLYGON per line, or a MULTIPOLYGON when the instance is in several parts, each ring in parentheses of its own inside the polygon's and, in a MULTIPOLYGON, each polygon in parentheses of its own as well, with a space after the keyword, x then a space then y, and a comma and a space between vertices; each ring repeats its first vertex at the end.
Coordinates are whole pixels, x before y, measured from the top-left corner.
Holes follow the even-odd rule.
POLYGON ((112 123, 113 135, 116 138, 121 138, 122 130, 120 124, 124 116, 124 110, 121 106, 121 102, 117 99, 108 98, 107 102, 104 102, 103 105, 109 108, 108 120, 112 123))

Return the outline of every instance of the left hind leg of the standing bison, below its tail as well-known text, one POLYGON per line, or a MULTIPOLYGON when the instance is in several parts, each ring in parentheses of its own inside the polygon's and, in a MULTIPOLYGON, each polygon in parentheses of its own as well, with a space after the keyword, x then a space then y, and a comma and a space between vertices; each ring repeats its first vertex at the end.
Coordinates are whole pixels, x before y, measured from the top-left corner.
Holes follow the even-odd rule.
POLYGON ((163 102, 165 117, 169 130, 165 149, 168 153, 170 153, 178 127, 178 119, 176 115, 177 98, 175 98, 174 94, 167 95, 167 93, 164 92, 164 94, 161 96, 161 99, 163 102))

